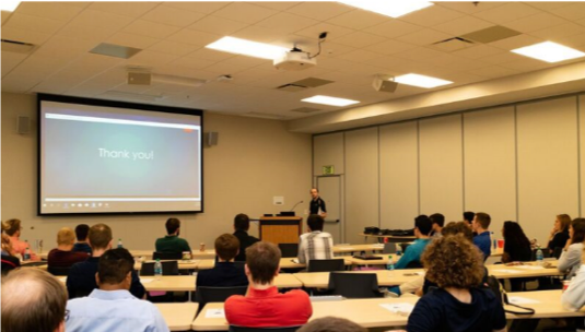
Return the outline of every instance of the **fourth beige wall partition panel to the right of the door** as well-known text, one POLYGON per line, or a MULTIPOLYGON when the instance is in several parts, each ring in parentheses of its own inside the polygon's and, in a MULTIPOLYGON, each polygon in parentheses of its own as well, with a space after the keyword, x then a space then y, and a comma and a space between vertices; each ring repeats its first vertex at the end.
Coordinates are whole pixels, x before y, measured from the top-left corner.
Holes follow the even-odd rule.
POLYGON ((503 222, 517 218, 513 106, 464 114, 464 163, 465 210, 489 213, 502 238, 503 222))

